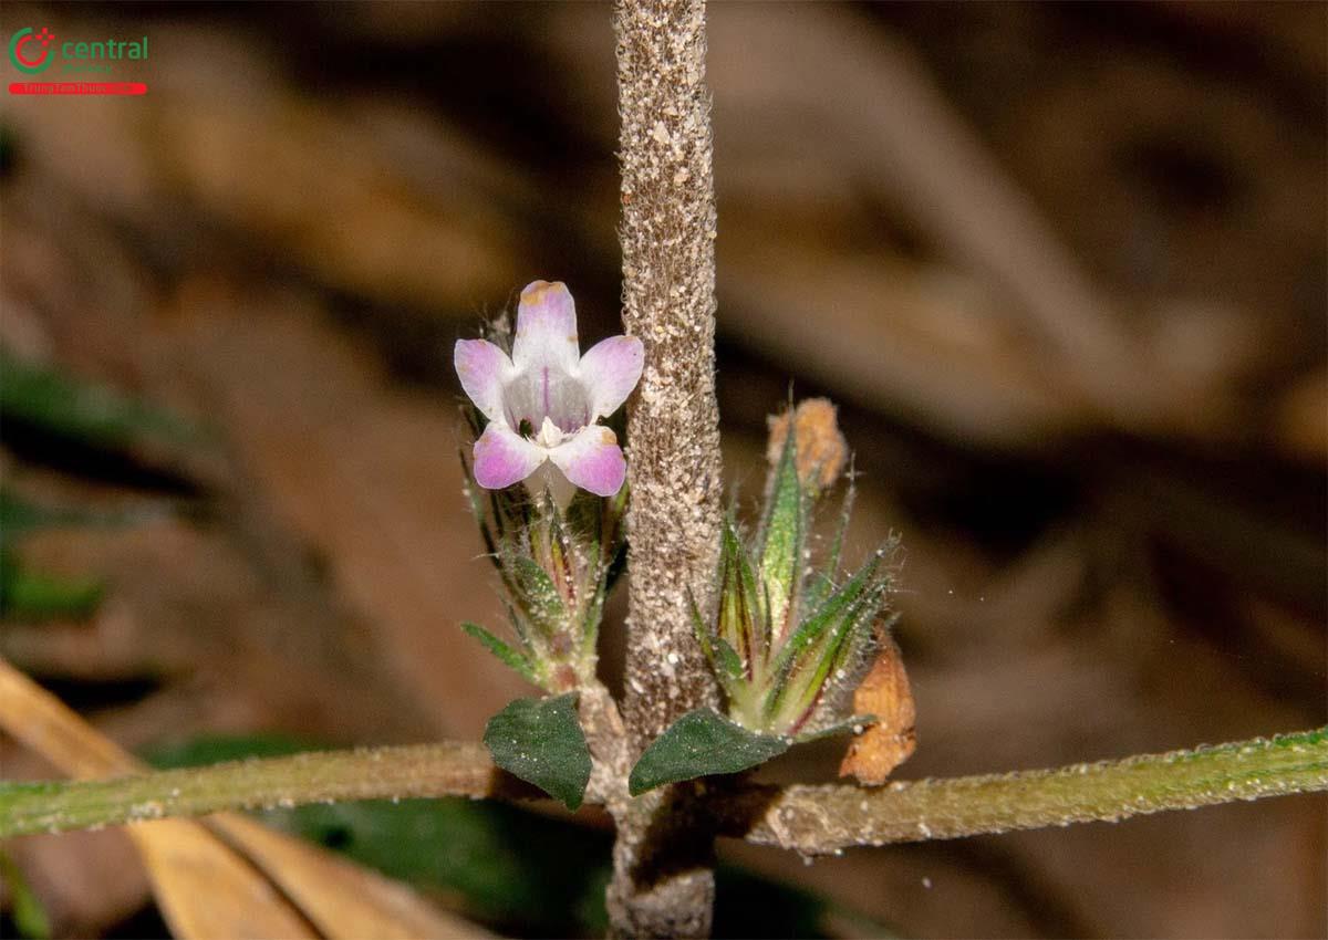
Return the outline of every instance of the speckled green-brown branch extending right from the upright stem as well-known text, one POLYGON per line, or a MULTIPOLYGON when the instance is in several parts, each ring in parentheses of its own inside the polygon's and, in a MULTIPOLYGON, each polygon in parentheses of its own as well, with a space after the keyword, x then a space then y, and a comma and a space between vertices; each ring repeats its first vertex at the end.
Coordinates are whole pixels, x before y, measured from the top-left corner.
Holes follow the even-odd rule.
POLYGON ((1328 728, 1056 770, 857 786, 753 787, 718 809, 726 835, 806 855, 1116 822, 1328 790, 1328 728))

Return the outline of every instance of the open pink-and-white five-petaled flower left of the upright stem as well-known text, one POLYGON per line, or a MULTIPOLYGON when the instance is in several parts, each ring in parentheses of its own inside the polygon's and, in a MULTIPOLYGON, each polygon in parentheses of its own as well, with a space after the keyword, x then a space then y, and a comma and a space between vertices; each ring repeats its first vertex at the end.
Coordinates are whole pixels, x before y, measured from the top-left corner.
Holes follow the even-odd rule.
POLYGON ((510 358, 485 340, 457 341, 461 388, 489 418, 475 441, 475 482, 501 490, 551 461, 583 490, 618 493, 627 471, 623 450, 614 431, 595 422, 627 401, 643 361, 635 336, 611 336, 582 356, 567 287, 529 284, 510 358))

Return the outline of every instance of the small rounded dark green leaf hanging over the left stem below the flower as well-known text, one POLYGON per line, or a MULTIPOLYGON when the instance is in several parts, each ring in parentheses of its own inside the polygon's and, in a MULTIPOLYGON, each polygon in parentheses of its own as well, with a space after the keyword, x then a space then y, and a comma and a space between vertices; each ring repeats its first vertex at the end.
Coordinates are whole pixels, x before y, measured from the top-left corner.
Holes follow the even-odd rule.
POLYGON ((591 763, 575 692, 515 700, 489 720, 485 746, 494 763, 563 801, 568 810, 582 805, 591 763))

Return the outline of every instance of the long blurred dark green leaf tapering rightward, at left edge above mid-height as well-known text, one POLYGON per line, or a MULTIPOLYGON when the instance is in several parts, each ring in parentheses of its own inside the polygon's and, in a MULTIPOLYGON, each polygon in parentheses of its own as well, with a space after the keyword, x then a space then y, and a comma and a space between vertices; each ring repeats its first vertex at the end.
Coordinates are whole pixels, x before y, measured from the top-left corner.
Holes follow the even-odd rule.
POLYGON ((0 348, 0 417, 100 446, 147 435, 191 442, 199 431, 166 412, 110 389, 27 362, 0 348))

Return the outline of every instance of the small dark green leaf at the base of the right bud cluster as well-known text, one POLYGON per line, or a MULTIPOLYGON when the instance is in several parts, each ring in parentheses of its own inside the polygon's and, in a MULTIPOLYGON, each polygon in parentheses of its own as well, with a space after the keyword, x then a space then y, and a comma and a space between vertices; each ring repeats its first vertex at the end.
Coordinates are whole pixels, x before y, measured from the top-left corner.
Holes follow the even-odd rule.
POLYGON ((628 791, 636 797, 665 783, 712 774, 736 774, 789 749, 786 738, 756 734, 709 708, 688 712, 645 749, 632 767, 628 791))

